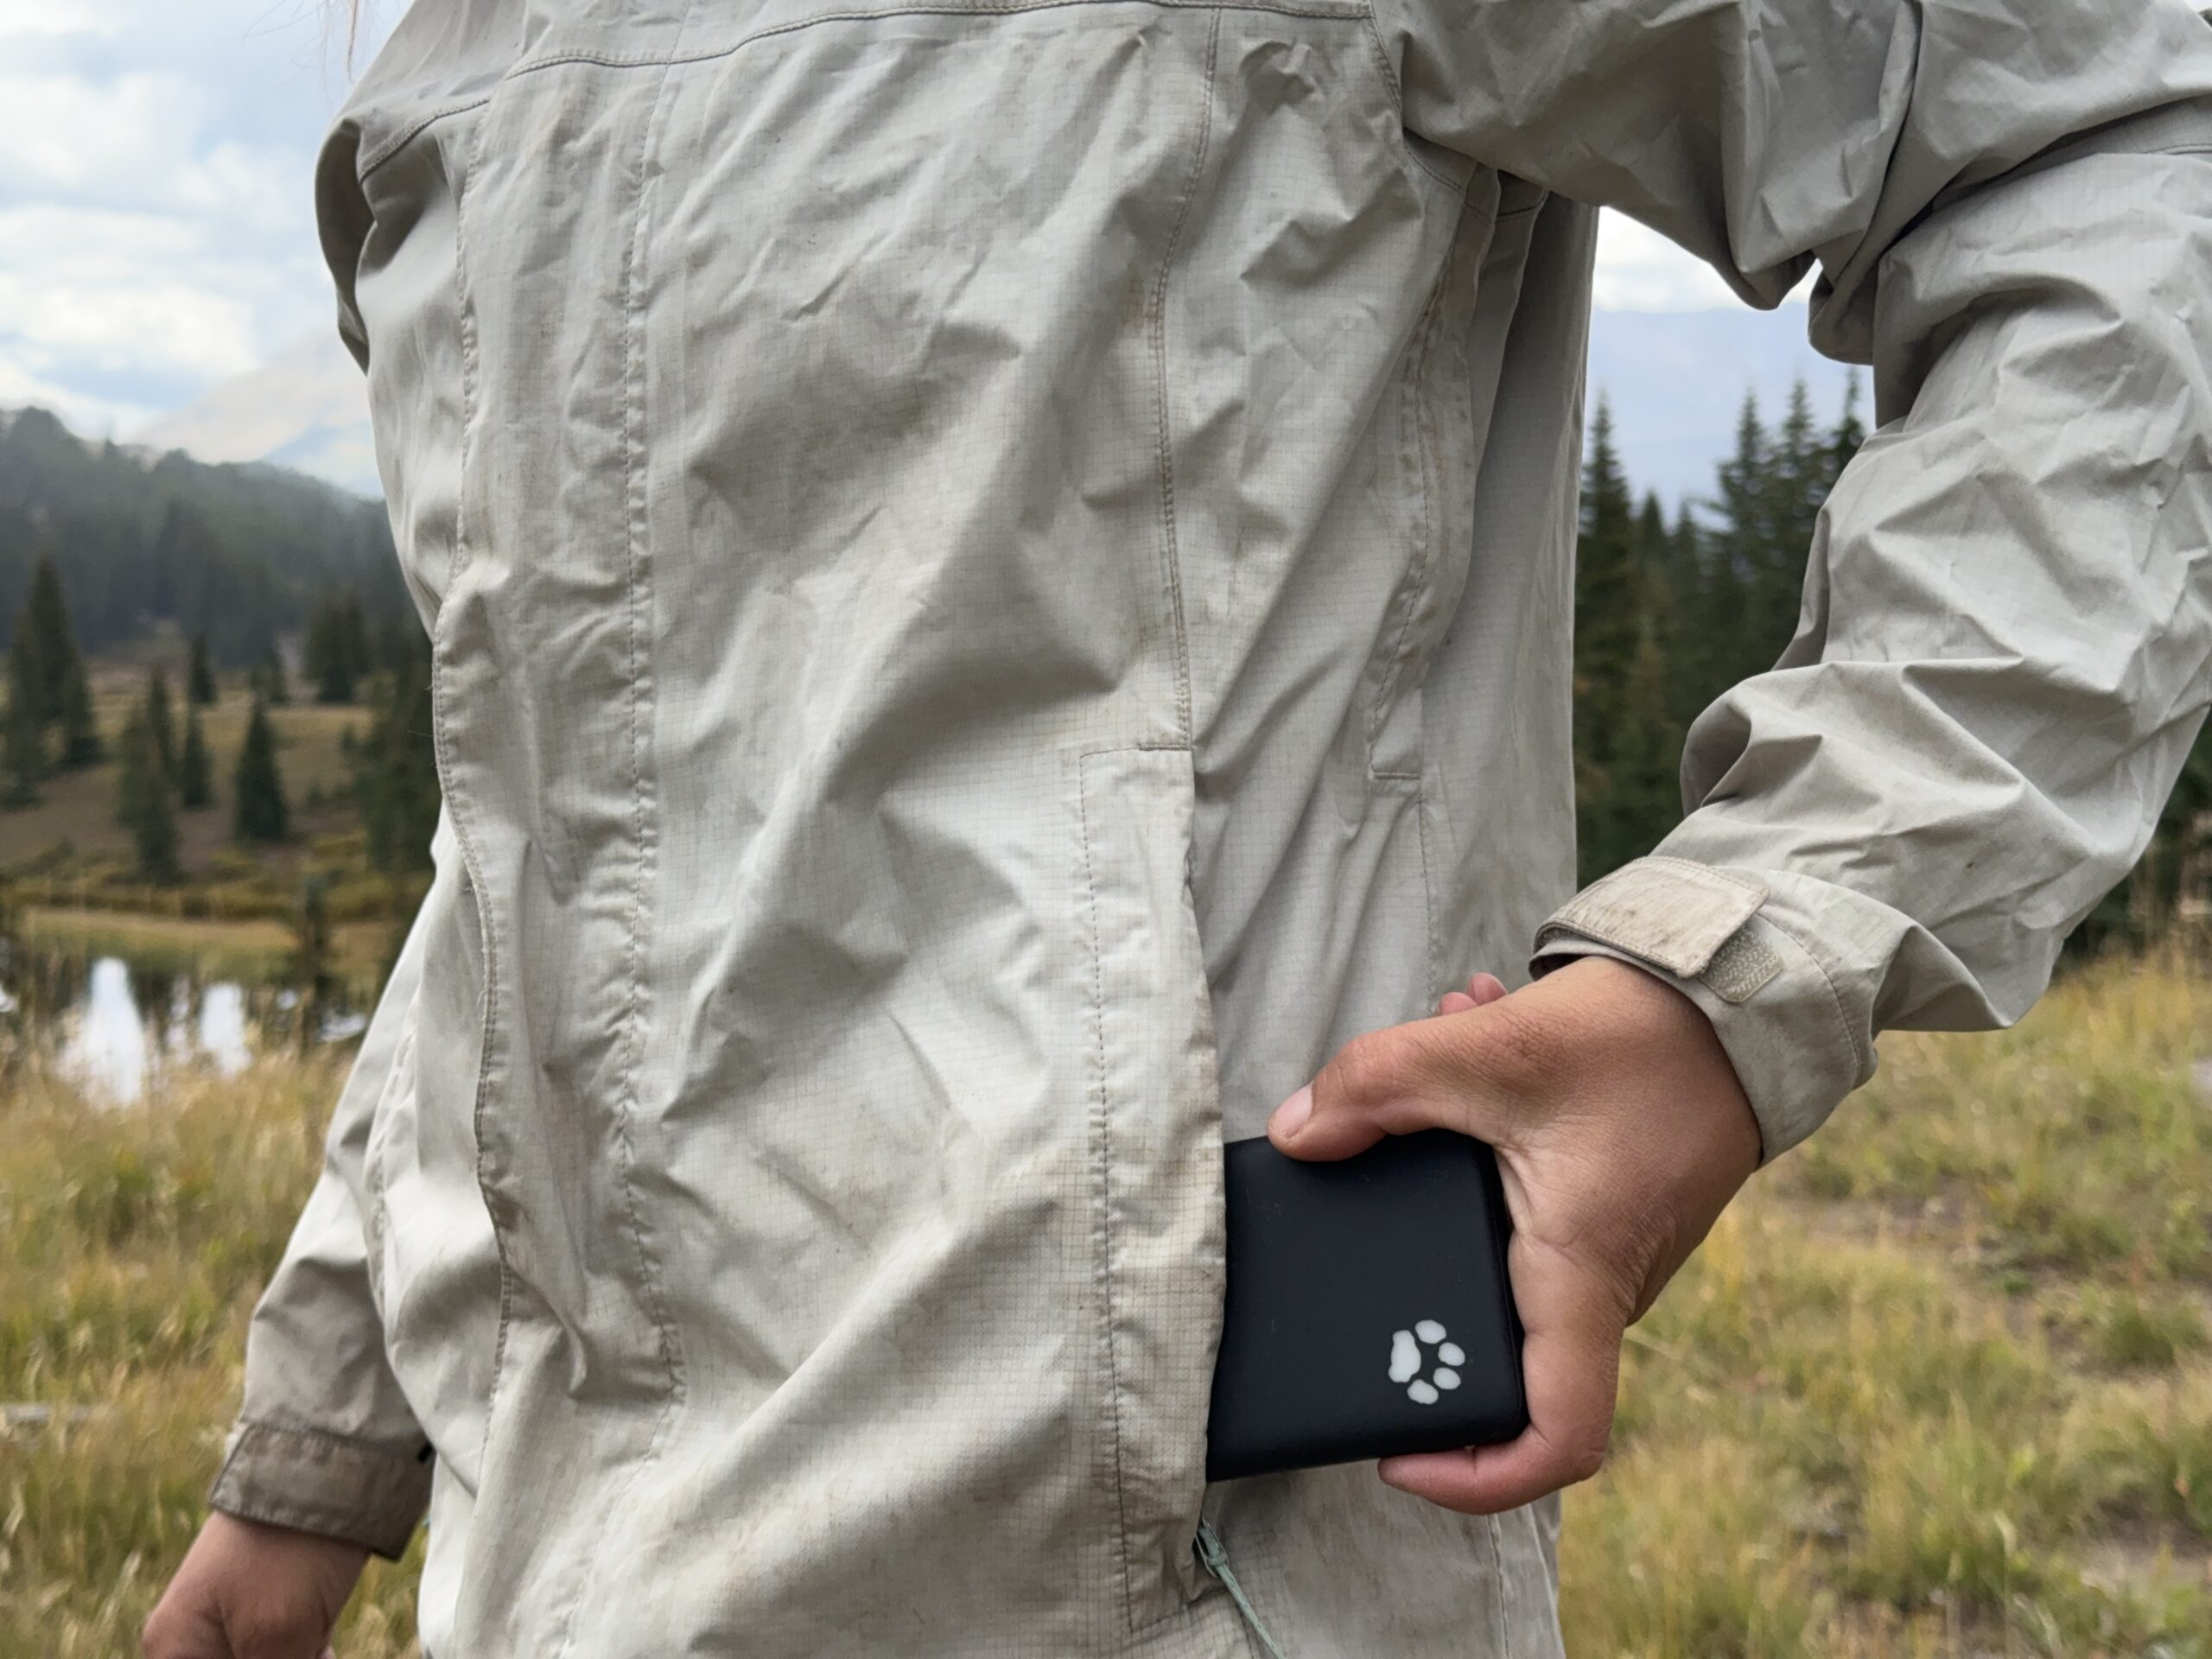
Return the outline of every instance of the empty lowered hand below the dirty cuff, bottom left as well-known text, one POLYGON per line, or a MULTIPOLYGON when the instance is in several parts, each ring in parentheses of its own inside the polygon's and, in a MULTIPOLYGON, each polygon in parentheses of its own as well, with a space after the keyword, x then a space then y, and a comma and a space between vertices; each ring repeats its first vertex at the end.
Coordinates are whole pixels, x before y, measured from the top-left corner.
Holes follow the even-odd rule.
POLYGON ((146 1659, 332 1659, 358 1544, 215 1511, 146 1619, 146 1659))

